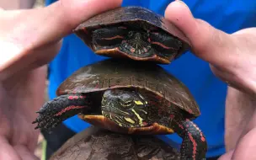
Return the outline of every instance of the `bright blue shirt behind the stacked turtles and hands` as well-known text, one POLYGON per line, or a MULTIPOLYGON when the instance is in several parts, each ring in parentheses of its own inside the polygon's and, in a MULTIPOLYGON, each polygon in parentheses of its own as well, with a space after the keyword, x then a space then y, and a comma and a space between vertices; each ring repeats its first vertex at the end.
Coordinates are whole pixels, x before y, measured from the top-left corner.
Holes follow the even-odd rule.
MULTIPOLYGON (((46 0, 46 4, 55 0, 46 0)), ((172 0, 124 0, 122 6, 141 6, 152 11, 164 14, 165 8, 172 0)), ((238 29, 255 27, 256 1, 255 0, 222 0, 204 1, 184 0, 195 18, 204 19, 217 29, 233 33, 238 29)), ((85 11, 86 12, 86 11, 85 11)), ((103 60, 104 57, 95 55, 76 35, 68 35, 63 40, 60 53, 50 63, 50 99, 56 97, 56 88, 78 68, 103 60)), ((195 96, 200 106, 201 115, 195 120, 205 133, 208 142, 207 157, 215 157, 225 152, 224 146, 224 115, 227 86, 216 78, 209 64, 195 57, 190 52, 181 56, 170 65, 163 65, 168 72, 178 77, 195 96)), ((74 116, 64 121, 72 131, 83 131, 89 126, 74 116)), ((181 143, 176 134, 161 136, 181 143)))

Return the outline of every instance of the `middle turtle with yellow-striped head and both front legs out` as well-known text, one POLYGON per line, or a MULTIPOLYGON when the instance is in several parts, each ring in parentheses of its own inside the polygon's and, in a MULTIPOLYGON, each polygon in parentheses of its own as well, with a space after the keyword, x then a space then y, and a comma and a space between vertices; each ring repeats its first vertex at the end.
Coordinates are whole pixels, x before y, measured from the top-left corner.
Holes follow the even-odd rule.
POLYGON ((181 159, 204 159, 207 142, 193 120, 200 108, 184 83, 152 61, 108 58, 81 67, 37 113, 35 129, 51 131, 67 118, 109 131, 139 135, 177 133, 181 159))

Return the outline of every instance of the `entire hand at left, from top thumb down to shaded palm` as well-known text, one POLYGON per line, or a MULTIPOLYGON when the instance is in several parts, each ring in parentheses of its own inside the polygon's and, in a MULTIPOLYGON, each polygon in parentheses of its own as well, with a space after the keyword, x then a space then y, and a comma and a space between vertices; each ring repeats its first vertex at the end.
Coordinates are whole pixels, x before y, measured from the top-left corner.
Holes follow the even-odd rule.
POLYGON ((120 3, 59 0, 46 8, 0 10, 0 159, 36 159, 33 153, 39 131, 31 122, 44 103, 43 65, 56 56, 63 36, 120 3))

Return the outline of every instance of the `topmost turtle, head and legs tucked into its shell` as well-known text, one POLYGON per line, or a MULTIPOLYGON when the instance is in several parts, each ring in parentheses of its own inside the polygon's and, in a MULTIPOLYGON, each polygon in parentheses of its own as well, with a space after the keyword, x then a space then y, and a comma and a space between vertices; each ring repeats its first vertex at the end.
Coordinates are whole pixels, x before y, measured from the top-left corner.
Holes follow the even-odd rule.
POLYGON ((100 56, 169 64, 190 48, 189 40, 147 8, 120 7, 79 24, 73 33, 100 56))

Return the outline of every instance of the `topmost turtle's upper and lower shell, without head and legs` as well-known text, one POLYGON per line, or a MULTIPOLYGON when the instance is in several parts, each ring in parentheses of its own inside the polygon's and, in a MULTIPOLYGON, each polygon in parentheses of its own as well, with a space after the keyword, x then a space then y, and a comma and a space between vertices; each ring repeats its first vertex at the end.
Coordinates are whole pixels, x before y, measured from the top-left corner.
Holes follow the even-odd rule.
POLYGON ((73 32, 83 40, 94 53, 99 54, 100 56, 123 57, 131 58, 135 61, 154 61, 155 63, 169 64, 190 49, 189 40, 177 27, 163 16, 154 13, 147 8, 141 7, 120 7, 100 13, 91 19, 86 20, 82 24, 79 24, 73 32), (92 33, 95 29, 109 26, 125 26, 128 30, 141 29, 147 32, 164 32, 180 40, 182 45, 179 48, 179 51, 169 57, 155 55, 152 57, 138 58, 127 56, 127 54, 122 53, 114 46, 110 46, 110 48, 104 46, 99 49, 99 46, 96 46, 93 43, 92 33))

